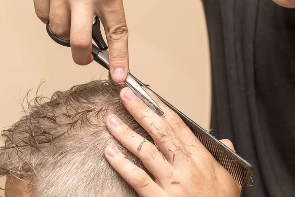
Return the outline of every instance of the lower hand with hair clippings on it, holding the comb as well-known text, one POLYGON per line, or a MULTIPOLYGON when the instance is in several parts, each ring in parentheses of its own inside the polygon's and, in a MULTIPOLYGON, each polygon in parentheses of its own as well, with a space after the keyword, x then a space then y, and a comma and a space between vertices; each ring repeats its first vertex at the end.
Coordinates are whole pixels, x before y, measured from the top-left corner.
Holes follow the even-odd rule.
MULTIPOLYGON (((164 110, 157 116, 129 88, 120 98, 127 110, 152 136, 158 148, 129 129, 117 116, 107 117, 109 131, 141 159, 154 180, 114 146, 105 149, 109 163, 141 197, 239 197, 241 187, 212 157, 177 114, 151 94, 164 110)), ((232 150, 229 140, 223 140, 232 150)))

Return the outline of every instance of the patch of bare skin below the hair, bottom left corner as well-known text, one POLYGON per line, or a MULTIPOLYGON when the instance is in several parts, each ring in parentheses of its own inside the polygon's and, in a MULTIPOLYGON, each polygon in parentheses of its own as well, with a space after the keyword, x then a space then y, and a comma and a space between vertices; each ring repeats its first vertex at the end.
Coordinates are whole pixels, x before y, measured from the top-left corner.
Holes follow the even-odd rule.
POLYGON ((7 177, 5 182, 5 197, 30 197, 28 183, 17 178, 7 177))

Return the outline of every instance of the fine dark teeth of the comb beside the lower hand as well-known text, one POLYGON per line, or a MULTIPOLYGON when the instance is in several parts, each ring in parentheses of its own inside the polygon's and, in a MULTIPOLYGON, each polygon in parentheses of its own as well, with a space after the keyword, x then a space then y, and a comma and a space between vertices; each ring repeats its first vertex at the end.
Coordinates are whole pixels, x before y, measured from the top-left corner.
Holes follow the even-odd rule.
POLYGON ((194 131, 194 133, 200 142, 212 154, 215 160, 230 172, 230 174, 233 176, 236 182, 242 186, 242 188, 249 183, 252 174, 248 173, 248 169, 245 165, 235 160, 233 156, 227 154, 226 151, 219 148, 212 141, 208 140, 207 136, 204 136, 200 132, 196 131, 194 131))

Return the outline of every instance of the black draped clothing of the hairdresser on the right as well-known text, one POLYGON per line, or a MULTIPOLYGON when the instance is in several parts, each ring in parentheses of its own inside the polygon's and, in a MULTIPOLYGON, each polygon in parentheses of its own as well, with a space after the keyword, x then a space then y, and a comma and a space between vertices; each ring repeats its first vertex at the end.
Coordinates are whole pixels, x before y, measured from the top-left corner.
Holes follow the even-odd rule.
POLYGON ((272 0, 203 0, 211 127, 255 168, 244 197, 295 197, 295 11, 272 0))

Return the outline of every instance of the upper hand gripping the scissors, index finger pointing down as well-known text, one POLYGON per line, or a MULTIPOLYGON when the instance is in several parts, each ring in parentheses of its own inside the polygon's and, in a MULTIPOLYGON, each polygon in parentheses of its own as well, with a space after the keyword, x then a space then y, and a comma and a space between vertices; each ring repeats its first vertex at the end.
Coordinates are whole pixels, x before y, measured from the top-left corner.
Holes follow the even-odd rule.
POLYGON ((128 29, 122 0, 34 0, 43 23, 50 21, 53 33, 70 39, 72 56, 78 65, 88 65, 94 16, 104 26, 110 50, 110 69, 115 82, 123 82, 128 72, 128 29))

